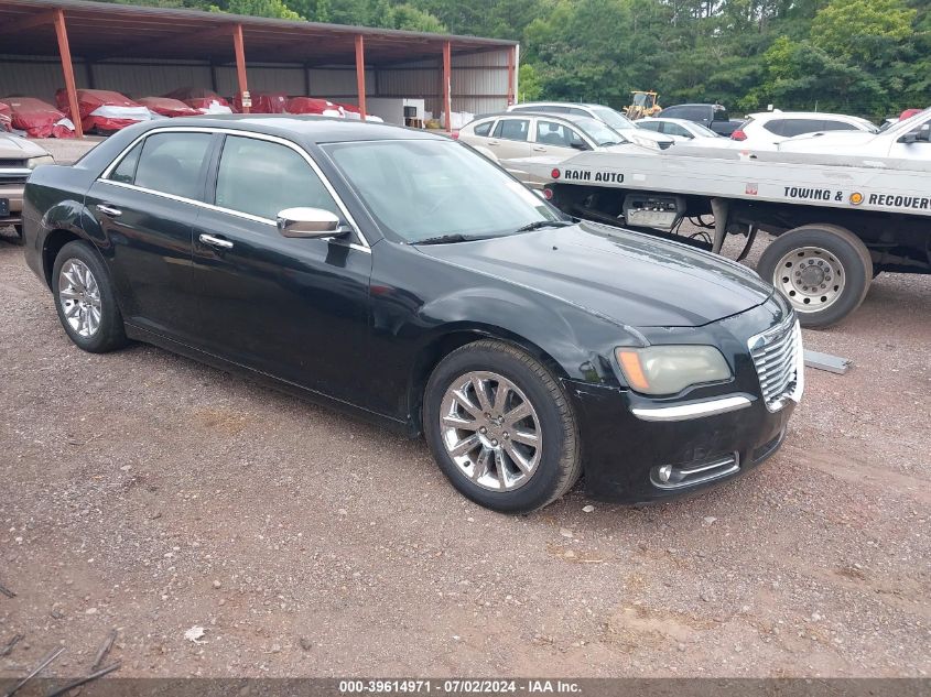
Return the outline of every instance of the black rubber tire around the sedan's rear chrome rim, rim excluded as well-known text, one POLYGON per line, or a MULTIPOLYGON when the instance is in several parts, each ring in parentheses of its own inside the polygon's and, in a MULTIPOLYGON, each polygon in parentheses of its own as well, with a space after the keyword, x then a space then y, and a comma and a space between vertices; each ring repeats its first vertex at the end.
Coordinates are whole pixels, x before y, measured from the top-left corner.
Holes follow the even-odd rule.
POLYGON ((58 319, 62 327, 68 335, 68 338, 74 344, 85 351, 90 353, 106 353, 116 349, 122 348, 127 345, 126 330, 123 328, 122 314, 117 305, 117 298, 113 294, 113 285, 110 281, 110 274, 102 260, 97 255, 97 252, 87 242, 74 241, 65 244, 58 255, 55 257, 55 263, 52 269, 52 294, 55 300, 55 309, 58 313, 58 319), (94 274, 97 286, 100 292, 100 324, 97 330, 90 336, 82 336, 74 327, 68 324, 65 317, 65 309, 59 296, 59 279, 62 268, 71 260, 83 262, 94 274))

